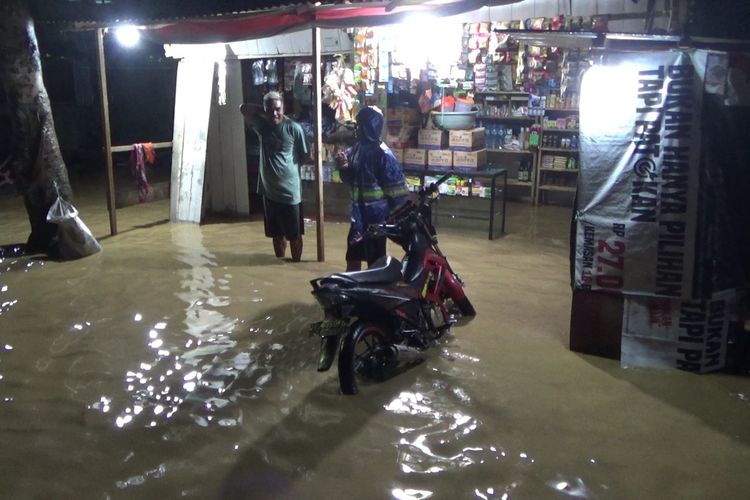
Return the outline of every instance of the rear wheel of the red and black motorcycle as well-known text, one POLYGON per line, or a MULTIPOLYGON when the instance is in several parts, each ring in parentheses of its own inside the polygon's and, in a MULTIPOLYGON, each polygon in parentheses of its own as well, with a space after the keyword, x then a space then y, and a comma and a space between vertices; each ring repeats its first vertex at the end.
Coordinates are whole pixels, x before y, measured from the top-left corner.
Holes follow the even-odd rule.
POLYGON ((360 383, 380 382, 395 367, 391 334, 371 321, 355 322, 339 352, 339 385, 343 394, 357 394, 360 383))

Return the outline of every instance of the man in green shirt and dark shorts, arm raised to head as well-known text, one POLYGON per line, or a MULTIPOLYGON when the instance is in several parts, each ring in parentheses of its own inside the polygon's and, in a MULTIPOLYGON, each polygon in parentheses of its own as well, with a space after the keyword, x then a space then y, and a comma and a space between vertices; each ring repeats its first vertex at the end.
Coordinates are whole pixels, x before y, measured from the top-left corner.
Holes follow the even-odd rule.
POLYGON ((289 241, 292 261, 299 262, 305 232, 299 171, 309 157, 305 133, 284 115, 284 100, 278 92, 263 96, 262 108, 245 103, 240 112, 260 139, 258 192, 263 196, 266 236, 273 240, 276 257, 285 256, 289 241))

